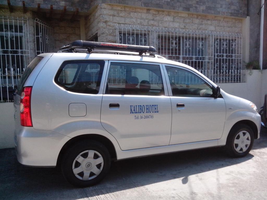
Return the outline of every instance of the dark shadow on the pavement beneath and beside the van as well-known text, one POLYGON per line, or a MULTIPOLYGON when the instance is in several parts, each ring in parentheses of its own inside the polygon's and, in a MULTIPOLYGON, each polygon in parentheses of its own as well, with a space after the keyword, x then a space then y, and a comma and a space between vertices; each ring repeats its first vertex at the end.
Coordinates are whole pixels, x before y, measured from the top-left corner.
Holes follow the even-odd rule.
MULTIPOLYGON (((267 129, 253 149, 267 147, 267 129)), ((41 155, 40 155, 41 156, 41 155)), ((109 194, 171 179, 182 178, 187 184, 190 175, 246 162, 229 158, 222 148, 186 151, 114 162, 107 177, 96 186, 74 188, 56 168, 32 168, 17 162, 14 149, 0 150, 0 199, 81 199, 109 194)))

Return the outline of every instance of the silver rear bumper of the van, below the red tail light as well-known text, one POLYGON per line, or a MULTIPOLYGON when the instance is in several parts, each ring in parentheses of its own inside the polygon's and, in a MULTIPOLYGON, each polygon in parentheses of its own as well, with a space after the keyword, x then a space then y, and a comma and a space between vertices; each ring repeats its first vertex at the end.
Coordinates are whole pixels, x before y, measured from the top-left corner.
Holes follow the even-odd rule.
POLYGON ((55 167, 58 154, 69 139, 54 131, 21 127, 14 133, 18 162, 27 166, 55 167))

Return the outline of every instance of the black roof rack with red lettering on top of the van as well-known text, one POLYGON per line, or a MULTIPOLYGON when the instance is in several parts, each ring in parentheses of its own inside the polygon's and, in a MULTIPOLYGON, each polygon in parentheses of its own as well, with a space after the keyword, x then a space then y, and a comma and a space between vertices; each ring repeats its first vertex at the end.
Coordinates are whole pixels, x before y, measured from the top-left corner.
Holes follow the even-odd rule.
POLYGON ((138 45, 125 45, 125 44, 114 44, 105 42, 91 42, 76 40, 68 45, 60 48, 58 52, 105 52, 105 53, 117 53, 117 54, 132 54, 138 53, 143 55, 149 53, 155 53, 156 49, 152 46, 138 46, 138 45))

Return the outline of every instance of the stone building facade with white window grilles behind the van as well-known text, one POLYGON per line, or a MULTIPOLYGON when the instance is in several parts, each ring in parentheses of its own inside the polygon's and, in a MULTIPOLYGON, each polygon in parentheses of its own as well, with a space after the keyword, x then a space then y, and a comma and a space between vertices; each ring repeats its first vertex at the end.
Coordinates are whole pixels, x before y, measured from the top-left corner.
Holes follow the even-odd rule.
POLYGON ((2 0, 0 102, 13 101, 14 88, 36 55, 79 39, 154 46, 159 55, 188 64, 215 83, 243 84, 246 63, 260 63, 260 54, 259 69, 267 69, 264 37, 260 52, 263 2, 2 0))

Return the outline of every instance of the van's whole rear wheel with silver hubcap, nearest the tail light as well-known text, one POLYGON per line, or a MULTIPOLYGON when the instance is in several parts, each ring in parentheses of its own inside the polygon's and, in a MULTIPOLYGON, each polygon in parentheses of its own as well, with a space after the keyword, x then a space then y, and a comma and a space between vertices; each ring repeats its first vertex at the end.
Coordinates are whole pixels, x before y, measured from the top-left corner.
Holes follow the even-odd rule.
POLYGON ((110 168, 107 148, 96 141, 76 143, 62 158, 61 170, 66 180, 77 187, 100 182, 110 168))

